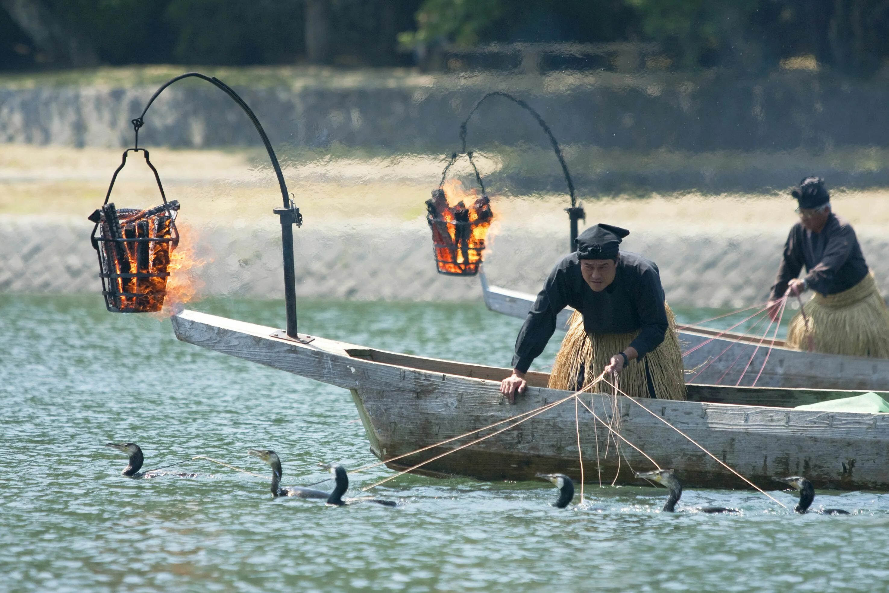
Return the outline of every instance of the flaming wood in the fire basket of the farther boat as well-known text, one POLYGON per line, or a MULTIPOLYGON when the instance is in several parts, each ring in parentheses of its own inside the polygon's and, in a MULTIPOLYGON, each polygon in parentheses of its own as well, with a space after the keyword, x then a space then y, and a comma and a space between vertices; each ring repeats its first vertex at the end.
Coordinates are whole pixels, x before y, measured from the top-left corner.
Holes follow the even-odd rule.
POLYGON ((427 200, 436 266, 443 274, 474 276, 482 263, 485 237, 493 212, 487 196, 466 191, 459 180, 449 180, 427 200), (453 206, 451 204, 454 204, 453 206), (466 204, 471 204, 467 207, 466 204))

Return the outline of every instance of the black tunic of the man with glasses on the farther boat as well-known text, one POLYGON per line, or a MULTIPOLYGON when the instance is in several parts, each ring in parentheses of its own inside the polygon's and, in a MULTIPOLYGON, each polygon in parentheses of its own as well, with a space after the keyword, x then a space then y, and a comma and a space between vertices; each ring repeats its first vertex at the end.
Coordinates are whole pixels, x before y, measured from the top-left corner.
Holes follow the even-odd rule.
POLYGON ((790 280, 805 266, 806 282, 815 292, 836 294, 852 288, 868 275, 855 231, 845 220, 830 212, 820 233, 807 230, 802 222, 790 229, 784 244, 784 258, 772 286, 772 299, 787 292, 790 280))

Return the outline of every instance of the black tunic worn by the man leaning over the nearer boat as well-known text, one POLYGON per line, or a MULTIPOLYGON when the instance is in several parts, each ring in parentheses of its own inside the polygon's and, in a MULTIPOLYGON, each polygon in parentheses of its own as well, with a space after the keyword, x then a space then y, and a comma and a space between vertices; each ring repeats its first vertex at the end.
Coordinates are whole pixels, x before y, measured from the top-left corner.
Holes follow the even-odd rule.
POLYGON ((567 305, 581 312, 587 333, 630 333, 641 329, 630 343, 640 359, 657 348, 667 333, 661 273, 653 261, 637 253, 621 252, 613 283, 604 291, 595 292, 581 276, 581 262, 574 252, 549 273, 528 312, 516 340, 514 368, 527 372, 556 331, 556 316, 567 305))

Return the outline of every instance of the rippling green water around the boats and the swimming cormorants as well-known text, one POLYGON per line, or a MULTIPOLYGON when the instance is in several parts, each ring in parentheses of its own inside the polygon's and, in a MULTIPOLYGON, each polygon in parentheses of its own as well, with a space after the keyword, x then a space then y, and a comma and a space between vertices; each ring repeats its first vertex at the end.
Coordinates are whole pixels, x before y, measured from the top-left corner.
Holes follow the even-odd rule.
MULTIPOLYGON (((276 301, 199 308, 283 324, 276 301)), ((495 365, 509 364, 520 324, 478 304, 300 302, 306 332, 495 365)), ((348 392, 181 343, 169 322, 112 315, 94 296, 0 295, 0 419, 0 590, 873 591, 889 581, 885 494, 815 499, 853 517, 796 516, 748 492, 684 494, 689 506, 743 510, 719 517, 661 513, 653 488, 588 485, 584 506, 557 510, 544 482, 405 476, 376 490, 396 509, 329 508, 273 501, 267 481, 206 461, 181 466, 195 478, 122 477, 124 455, 107 441, 139 443, 146 469, 204 454, 262 474, 245 453, 270 448, 285 484, 325 477, 318 461, 374 460, 348 392)), ((390 475, 374 469, 353 485, 390 475)))

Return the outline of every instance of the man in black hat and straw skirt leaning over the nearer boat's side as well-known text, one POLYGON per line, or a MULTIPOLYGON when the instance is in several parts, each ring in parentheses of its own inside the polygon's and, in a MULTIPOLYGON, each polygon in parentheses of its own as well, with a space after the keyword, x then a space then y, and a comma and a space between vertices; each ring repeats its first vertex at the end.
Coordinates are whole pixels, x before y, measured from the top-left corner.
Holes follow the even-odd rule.
MULTIPOLYGON (((682 353, 660 271, 653 261, 620 251, 628 235, 609 224, 590 227, 577 237, 577 251, 550 272, 518 333, 513 373, 501 382, 510 401, 525 391, 525 373, 566 306, 576 312, 549 388, 578 390, 606 371, 620 373, 618 386, 629 396, 685 399, 682 353)), ((592 390, 611 389, 603 383, 592 390)))

